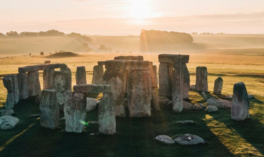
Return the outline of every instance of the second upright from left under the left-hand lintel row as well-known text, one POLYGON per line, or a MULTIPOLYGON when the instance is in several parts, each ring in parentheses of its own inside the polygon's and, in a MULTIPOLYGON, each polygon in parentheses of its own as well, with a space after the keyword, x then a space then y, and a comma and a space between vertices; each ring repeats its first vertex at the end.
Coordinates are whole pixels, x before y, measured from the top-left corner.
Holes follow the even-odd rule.
POLYGON ((39 71, 30 71, 27 73, 28 80, 28 96, 39 95, 40 82, 39 82, 39 71))

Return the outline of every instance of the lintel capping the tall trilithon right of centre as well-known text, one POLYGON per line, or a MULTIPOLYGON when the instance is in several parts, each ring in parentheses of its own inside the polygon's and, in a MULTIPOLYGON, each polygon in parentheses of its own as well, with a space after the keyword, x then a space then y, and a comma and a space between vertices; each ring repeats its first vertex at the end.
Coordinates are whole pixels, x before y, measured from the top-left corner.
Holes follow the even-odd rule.
POLYGON ((174 55, 174 54, 160 54, 159 62, 174 63, 175 59, 179 56, 182 57, 182 63, 189 62, 189 55, 174 55))

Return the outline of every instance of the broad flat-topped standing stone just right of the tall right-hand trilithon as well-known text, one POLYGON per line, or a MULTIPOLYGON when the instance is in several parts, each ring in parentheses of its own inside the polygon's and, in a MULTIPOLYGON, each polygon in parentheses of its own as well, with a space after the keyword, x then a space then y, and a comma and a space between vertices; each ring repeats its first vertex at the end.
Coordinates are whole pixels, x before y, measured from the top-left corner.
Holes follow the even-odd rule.
POLYGON ((201 91, 201 92, 208 92, 207 68, 206 67, 196 67, 195 90, 201 91))

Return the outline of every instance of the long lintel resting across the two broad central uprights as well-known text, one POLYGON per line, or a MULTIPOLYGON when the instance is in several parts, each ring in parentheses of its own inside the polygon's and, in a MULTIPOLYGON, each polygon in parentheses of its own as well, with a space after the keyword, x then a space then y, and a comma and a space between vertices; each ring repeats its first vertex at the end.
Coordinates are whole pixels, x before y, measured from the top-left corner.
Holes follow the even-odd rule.
POLYGON ((149 70, 149 61, 109 60, 105 61, 107 70, 149 70))

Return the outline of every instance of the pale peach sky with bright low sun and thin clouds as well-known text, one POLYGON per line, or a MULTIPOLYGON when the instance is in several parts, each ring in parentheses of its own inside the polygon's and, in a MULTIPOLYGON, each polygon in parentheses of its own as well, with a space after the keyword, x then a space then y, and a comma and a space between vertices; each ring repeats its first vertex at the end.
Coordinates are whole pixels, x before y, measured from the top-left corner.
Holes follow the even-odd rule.
POLYGON ((0 0, 0 32, 264 34, 264 0, 0 0))

